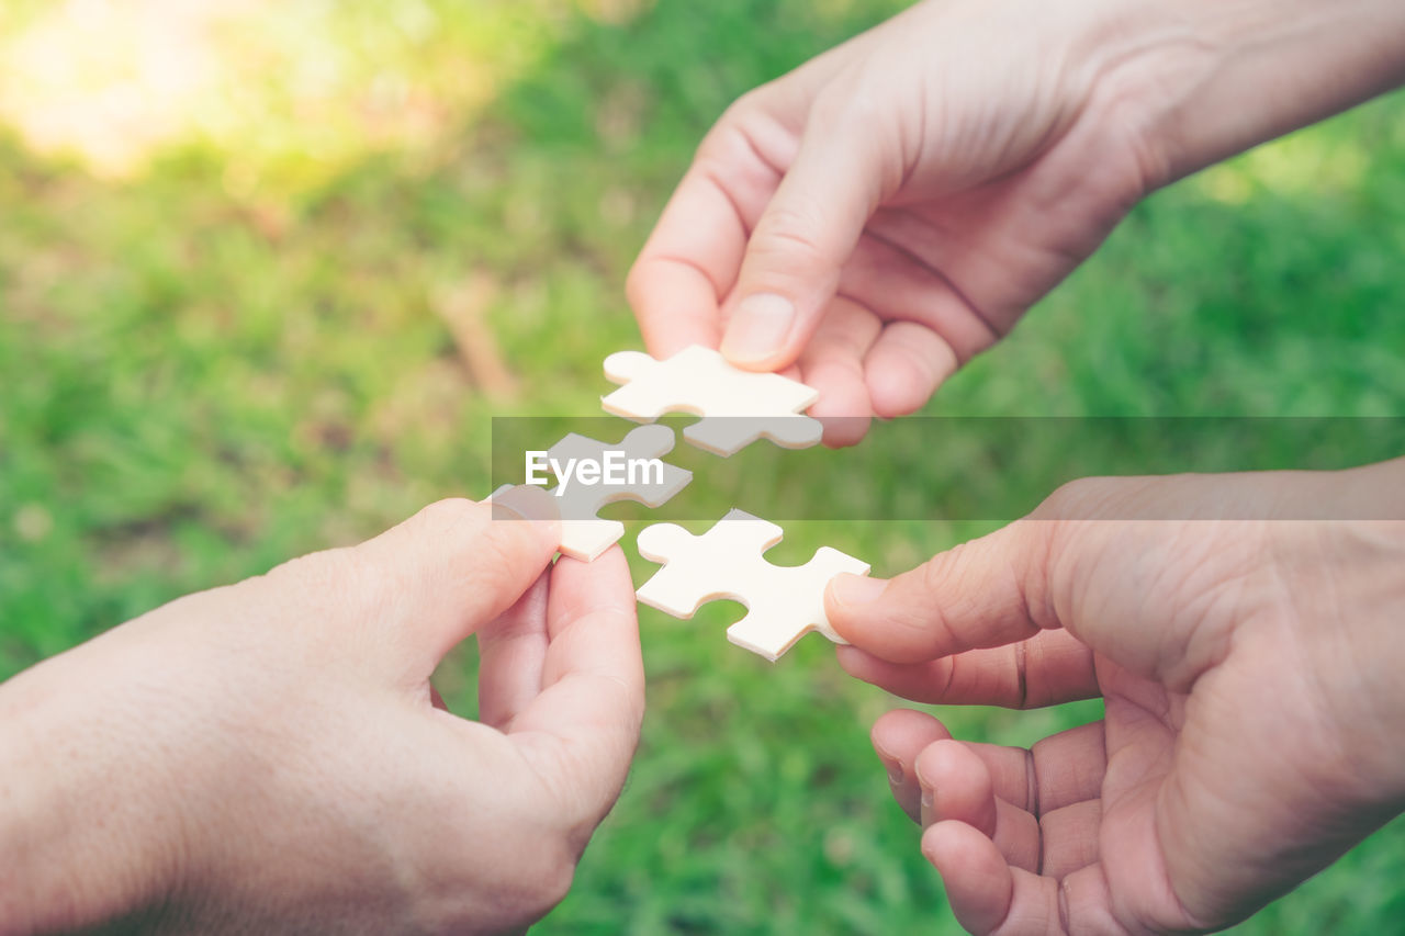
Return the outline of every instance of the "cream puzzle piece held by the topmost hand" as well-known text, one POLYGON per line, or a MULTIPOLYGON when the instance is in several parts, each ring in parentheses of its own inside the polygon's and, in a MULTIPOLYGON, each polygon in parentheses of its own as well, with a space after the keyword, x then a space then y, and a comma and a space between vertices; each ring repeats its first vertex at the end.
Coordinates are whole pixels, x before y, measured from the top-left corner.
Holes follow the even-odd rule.
POLYGON ((659 361, 642 351, 606 358, 606 377, 620 389, 600 399, 606 412, 651 423, 669 412, 702 416, 683 437, 715 455, 732 455, 764 436, 783 448, 808 448, 823 431, 804 415, 819 391, 780 374, 732 367, 717 351, 691 344, 659 361), (715 419, 725 417, 725 419, 715 419))

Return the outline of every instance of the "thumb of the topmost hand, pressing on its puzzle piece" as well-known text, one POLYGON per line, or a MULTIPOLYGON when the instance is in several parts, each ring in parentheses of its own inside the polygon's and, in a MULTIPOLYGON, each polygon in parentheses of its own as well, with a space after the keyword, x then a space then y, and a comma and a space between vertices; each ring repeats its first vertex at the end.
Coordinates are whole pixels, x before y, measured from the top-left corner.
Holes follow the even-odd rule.
POLYGON ((799 357, 882 197, 871 125, 829 119, 826 110, 823 100, 811 110, 799 152, 746 245, 721 346, 738 367, 778 371, 799 357))

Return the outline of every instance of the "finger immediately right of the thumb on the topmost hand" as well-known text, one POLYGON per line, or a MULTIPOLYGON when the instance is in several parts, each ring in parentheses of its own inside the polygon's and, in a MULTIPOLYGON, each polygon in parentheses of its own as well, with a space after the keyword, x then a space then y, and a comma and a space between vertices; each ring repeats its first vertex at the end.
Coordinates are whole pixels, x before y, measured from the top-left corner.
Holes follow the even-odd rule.
POLYGON ((825 424, 830 448, 853 446, 868 431, 873 408, 863 360, 878 337, 878 319, 846 297, 835 297, 815 337, 801 354, 801 379, 819 391, 806 410, 825 424))

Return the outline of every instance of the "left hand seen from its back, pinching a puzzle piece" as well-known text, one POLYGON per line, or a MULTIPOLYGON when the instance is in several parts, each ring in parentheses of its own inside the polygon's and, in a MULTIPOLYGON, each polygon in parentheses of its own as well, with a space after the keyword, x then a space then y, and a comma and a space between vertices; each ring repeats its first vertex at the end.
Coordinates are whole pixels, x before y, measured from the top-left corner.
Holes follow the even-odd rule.
POLYGON ((540 918, 618 795, 643 710, 624 555, 549 568, 558 537, 437 503, 6 683, 0 932, 540 918), (473 632, 481 722, 430 687, 473 632))

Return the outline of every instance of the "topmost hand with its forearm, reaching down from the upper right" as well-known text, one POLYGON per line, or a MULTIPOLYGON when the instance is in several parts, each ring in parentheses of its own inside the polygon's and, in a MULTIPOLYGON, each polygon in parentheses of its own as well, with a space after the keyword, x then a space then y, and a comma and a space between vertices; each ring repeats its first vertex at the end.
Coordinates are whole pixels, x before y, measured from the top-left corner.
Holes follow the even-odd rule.
POLYGON ((1405 76, 1397 0, 929 0, 742 97, 629 275, 659 357, 910 413, 1146 193, 1405 76))

